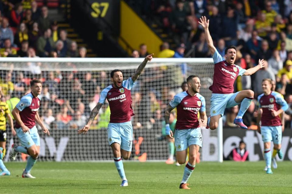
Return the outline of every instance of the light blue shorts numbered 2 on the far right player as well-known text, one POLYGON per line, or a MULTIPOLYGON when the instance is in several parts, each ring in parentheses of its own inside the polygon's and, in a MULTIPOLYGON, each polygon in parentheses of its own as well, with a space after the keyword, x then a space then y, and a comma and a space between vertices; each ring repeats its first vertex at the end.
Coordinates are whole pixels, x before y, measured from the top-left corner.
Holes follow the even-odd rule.
POLYGON ((282 126, 262 126, 261 127, 262 141, 281 144, 282 142, 282 126))

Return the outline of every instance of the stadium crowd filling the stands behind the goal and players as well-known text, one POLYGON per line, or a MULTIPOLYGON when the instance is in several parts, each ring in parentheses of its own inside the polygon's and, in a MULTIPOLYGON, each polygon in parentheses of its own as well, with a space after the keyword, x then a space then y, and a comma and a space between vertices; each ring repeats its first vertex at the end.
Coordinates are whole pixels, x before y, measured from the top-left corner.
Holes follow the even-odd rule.
MULTIPOLYGON (((65 30, 58 30, 56 22, 50 21, 48 8, 27 1, 0 2, 1 57, 85 57, 86 49, 77 47, 76 42, 67 38, 65 30)), ((263 78, 275 81, 275 91, 281 93, 289 109, 285 115, 285 125, 291 128, 292 115, 292 3, 291 1, 252 1, 252 0, 144 0, 127 1, 140 8, 141 15, 158 18, 160 25, 168 31, 178 45, 176 51, 169 43, 161 45, 158 57, 183 58, 192 50, 195 57, 211 57, 198 18, 206 15, 210 19, 210 33, 218 52, 224 56, 228 45, 236 45, 236 63, 244 69, 265 59, 265 68, 255 75, 238 77, 235 92, 252 89, 255 97, 262 93, 263 78)), ((141 44, 139 51, 132 57, 148 55, 147 45, 141 44)), ((181 72, 175 71, 172 72, 181 72)), ((176 75, 174 79, 164 80, 172 86, 158 84, 162 77, 170 75, 169 69, 157 68, 144 72, 143 81, 137 82, 133 89, 134 129, 161 129, 163 110, 179 89, 185 77, 176 75), (151 72, 150 72, 151 71, 151 72), (179 77, 181 77, 179 79, 179 77), (147 88, 148 94, 141 91, 147 88), (155 89, 151 88, 155 87, 155 89), (146 109, 150 111, 143 111, 146 109)), ((182 70, 184 75, 184 70, 182 70)), ((130 75, 130 74, 129 74, 130 75)), ((129 76, 127 75, 127 76, 129 76)), ((15 104, 26 92, 29 81, 38 78, 43 81, 40 115, 48 127, 56 129, 78 129, 82 127, 90 111, 96 105, 102 89, 110 85, 109 72, 46 72, 41 63, 28 63, 25 71, 1 70, 0 93, 2 100, 15 104), (15 100, 15 102, 14 102, 15 100)), ((124 75, 126 78, 126 75, 124 75)), ((173 77, 173 76, 172 76, 173 77)), ((234 126, 233 120, 238 106, 227 109, 224 124, 234 126)), ((100 129, 109 122, 109 107, 105 104, 95 120, 92 129, 100 129)), ((244 122, 255 129, 257 116, 256 98, 244 115, 244 122)), ((139 130, 137 130, 139 131, 139 130)), ((139 132, 138 132, 139 133, 139 132)), ((139 135, 138 135, 139 136, 139 135)))

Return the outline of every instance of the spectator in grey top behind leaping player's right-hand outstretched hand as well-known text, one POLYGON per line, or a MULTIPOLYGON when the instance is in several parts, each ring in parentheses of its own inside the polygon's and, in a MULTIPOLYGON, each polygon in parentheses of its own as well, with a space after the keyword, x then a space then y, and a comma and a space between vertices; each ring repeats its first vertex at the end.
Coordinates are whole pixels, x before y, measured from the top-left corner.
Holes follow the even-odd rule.
POLYGON ((273 71, 269 68, 269 64, 267 61, 264 61, 264 67, 255 73, 255 80, 253 82, 253 88, 255 92, 255 96, 258 96, 262 93, 262 80, 265 78, 269 78, 271 80, 276 80, 273 71))

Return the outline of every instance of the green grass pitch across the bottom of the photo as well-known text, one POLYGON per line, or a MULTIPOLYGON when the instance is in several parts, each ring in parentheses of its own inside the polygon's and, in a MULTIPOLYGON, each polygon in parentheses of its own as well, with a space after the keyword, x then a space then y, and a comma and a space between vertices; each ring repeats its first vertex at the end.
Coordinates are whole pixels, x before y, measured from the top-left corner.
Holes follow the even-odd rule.
POLYGON ((21 178, 23 162, 6 162, 10 176, 0 177, 0 193, 292 193, 292 163, 278 162, 267 175, 265 162, 201 162, 189 179, 190 190, 178 189, 184 165, 124 162, 129 182, 120 187, 113 162, 37 162, 36 179, 21 178))

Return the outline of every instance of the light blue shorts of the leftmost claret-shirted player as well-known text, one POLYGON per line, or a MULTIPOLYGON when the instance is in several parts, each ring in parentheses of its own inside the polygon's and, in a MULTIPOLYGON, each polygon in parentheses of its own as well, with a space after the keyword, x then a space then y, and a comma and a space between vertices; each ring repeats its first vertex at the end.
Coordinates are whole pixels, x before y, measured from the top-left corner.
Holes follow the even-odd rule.
POLYGON ((36 146, 40 146, 40 136, 37 133, 36 126, 33 126, 33 128, 30 129, 30 133, 24 133, 22 128, 17 128, 16 134, 23 147, 28 149, 34 144, 36 146))

